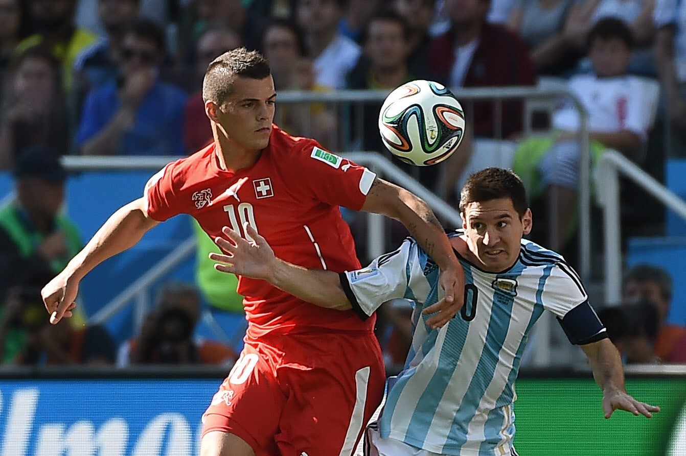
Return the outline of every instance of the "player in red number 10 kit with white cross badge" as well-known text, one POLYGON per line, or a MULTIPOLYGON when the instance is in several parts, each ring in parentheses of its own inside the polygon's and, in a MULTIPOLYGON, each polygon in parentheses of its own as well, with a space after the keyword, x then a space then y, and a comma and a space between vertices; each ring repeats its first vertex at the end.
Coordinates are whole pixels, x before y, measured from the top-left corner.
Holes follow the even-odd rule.
MULTIPOLYGON (((310 269, 359 269, 340 206, 399 219, 442 269, 445 324, 459 309, 462 268, 429 207, 368 169, 272 124, 276 92, 255 51, 216 58, 203 84, 214 141, 169 163, 143 197, 119 209, 43 289, 57 322, 80 279, 159 221, 192 215, 213 239, 246 226, 284 259, 310 269)), ((383 395, 374 317, 307 304, 264 280, 239 278, 248 330, 240 359, 204 413, 202 456, 350 455, 383 395)))

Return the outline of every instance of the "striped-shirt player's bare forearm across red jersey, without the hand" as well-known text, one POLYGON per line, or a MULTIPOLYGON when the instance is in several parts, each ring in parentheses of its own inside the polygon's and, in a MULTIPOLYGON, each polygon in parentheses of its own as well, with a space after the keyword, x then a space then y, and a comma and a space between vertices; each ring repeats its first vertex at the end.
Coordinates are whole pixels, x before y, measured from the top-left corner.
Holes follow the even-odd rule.
POLYGON ((316 306, 339 311, 352 309, 335 272, 305 269, 276 259, 267 280, 274 287, 316 306))

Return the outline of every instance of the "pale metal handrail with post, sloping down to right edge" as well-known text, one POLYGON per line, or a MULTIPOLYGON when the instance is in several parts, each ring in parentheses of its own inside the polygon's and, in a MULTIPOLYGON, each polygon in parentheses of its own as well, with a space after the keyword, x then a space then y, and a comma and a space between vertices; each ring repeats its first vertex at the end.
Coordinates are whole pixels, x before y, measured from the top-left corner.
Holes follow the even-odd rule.
POLYGON ((619 173, 638 184, 657 200, 686 220, 686 202, 652 178, 628 158, 607 150, 595 173, 598 203, 603 208, 605 301, 617 303, 622 297, 622 232, 619 229, 619 173))

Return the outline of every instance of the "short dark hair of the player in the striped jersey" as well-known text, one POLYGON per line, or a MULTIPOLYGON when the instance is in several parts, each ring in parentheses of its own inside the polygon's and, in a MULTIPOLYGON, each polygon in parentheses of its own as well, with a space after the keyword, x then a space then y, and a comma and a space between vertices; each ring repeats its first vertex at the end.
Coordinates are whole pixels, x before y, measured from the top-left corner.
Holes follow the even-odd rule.
POLYGON ((473 173, 460 191, 460 212, 469 204, 510 198, 514 210, 523 217, 529 207, 526 189, 517 174, 504 168, 486 168, 473 173))

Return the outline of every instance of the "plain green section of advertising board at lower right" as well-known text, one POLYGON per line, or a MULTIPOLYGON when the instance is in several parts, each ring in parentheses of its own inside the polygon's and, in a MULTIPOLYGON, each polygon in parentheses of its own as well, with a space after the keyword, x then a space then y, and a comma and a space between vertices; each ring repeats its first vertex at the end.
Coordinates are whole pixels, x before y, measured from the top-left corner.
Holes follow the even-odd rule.
MULTIPOLYGON (((661 407, 652 418, 615 411, 603 416, 600 389, 592 379, 519 379, 514 403, 521 456, 662 456, 676 420, 686 408, 686 379, 627 379, 626 389, 661 407)), ((675 456, 686 456, 686 445, 675 456)))

